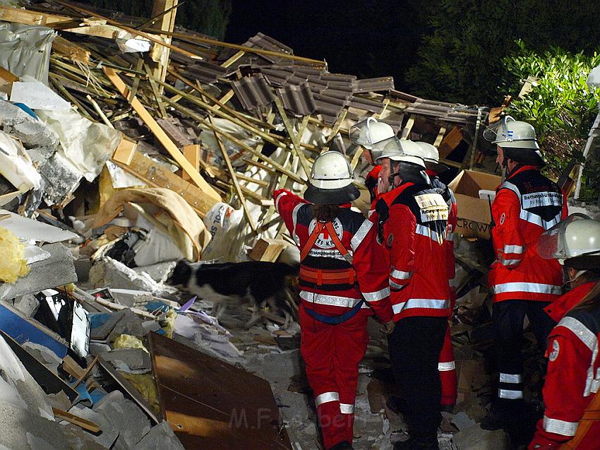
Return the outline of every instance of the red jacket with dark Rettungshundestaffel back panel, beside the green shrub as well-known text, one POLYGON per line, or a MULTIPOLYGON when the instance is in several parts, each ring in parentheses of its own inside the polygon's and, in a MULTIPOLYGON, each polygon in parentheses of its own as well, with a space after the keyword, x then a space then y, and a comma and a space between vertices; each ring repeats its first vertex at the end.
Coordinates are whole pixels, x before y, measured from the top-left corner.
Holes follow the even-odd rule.
POLYGON ((496 261, 488 278, 493 301, 556 300, 563 271, 555 259, 537 254, 536 243, 541 233, 568 215, 565 196, 531 165, 515 170, 496 192, 492 203, 496 261))

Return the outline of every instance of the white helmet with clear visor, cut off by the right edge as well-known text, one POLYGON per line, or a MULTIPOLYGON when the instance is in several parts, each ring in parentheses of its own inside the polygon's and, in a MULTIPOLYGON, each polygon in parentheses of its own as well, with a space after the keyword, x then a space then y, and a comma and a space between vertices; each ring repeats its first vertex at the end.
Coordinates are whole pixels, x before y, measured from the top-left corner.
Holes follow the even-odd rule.
POLYGON ((539 237, 537 251, 544 259, 558 259, 572 268, 600 268, 600 222, 571 214, 539 237))

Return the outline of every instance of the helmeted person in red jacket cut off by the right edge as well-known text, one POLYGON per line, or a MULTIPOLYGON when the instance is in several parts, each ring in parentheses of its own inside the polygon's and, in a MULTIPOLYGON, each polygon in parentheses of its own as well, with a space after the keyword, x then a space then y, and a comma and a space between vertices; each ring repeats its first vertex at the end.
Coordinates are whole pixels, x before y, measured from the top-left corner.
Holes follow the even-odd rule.
POLYGON ((563 261, 571 290, 546 310, 558 321, 548 338, 544 418, 529 450, 600 450, 600 417, 590 411, 586 431, 579 430, 585 410, 600 387, 600 222, 570 215, 541 236, 539 254, 563 261), (591 422, 589 420, 592 420, 591 422))

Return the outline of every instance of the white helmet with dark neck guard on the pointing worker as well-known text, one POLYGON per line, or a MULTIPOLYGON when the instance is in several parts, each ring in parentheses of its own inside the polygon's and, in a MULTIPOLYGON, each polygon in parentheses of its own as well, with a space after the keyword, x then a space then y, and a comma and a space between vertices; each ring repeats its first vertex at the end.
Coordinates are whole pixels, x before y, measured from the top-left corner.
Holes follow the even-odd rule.
POLYGON ((313 164, 304 199, 320 204, 349 203, 360 196, 353 182, 352 167, 342 153, 332 150, 321 153, 313 164))

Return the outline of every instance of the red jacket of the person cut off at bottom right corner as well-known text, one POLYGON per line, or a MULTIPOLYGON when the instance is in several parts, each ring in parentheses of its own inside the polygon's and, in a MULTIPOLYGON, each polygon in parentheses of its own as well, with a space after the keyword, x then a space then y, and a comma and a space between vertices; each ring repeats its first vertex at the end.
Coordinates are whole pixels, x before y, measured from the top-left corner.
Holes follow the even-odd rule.
MULTIPOLYGON (((581 301, 585 289, 577 292, 581 301)), ((577 432, 584 410, 600 386, 599 338, 600 308, 570 311, 550 333, 544 419, 538 422, 529 449, 558 449, 558 444, 577 432)), ((577 449, 599 449, 599 437, 600 421, 596 421, 577 449)))

